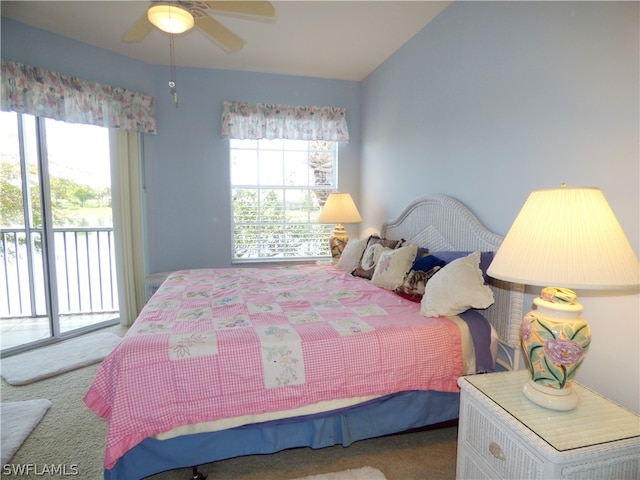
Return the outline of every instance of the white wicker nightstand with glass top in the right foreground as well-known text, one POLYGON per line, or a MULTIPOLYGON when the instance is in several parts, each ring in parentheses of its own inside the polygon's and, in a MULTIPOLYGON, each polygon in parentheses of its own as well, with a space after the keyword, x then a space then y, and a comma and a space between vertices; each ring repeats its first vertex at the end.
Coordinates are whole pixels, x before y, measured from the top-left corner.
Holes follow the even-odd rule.
POLYGON ((640 415, 574 383, 575 410, 522 393, 527 371, 462 377, 458 479, 640 478, 640 415))

